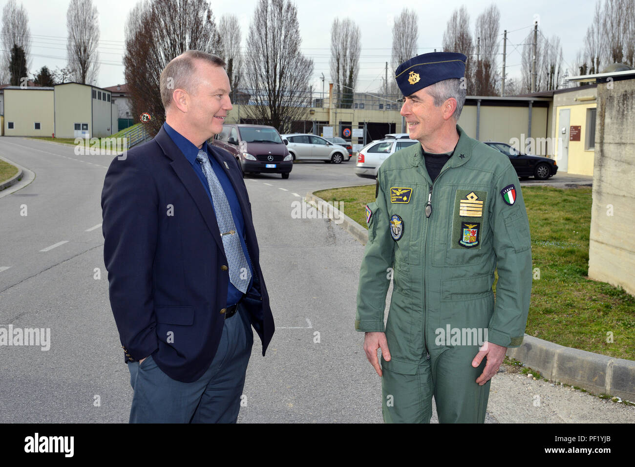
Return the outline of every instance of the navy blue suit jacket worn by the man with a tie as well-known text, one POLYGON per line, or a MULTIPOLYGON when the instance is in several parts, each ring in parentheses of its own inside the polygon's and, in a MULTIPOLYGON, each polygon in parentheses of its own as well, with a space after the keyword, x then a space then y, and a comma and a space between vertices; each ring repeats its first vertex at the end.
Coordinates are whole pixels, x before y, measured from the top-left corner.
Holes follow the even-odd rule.
MULTIPOLYGON (((236 159, 215 146, 210 152, 220 166, 229 166, 227 175, 243 211, 253 286, 241 304, 265 355, 274 320, 251 203, 236 159)), ((110 306, 126 362, 151 354, 172 379, 196 381, 218 348, 229 271, 210 199, 163 128, 126 158, 110 163, 102 215, 110 306)))

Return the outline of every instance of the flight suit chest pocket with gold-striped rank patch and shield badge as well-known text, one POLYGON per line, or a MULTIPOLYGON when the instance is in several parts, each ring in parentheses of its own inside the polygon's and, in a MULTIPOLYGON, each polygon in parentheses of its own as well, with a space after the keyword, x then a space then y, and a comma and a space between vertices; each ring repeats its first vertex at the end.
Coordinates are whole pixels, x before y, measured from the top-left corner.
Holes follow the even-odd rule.
POLYGON ((488 235, 488 192, 482 189, 453 190, 446 238, 445 264, 462 266, 479 261, 481 245, 488 235), (448 238, 449 237, 449 238, 448 238))

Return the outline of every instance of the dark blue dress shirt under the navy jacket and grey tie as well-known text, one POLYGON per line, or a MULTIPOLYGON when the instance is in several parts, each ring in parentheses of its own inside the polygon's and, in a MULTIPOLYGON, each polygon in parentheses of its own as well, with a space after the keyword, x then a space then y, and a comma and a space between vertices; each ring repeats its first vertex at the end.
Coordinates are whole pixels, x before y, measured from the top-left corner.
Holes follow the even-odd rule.
MULTIPOLYGON (((210 186, 208 185, 207 179, 205 178, 205 175, 203 173, 203 168, 201 168, 201 165, 196 161, 196 156, 198 155, 199 149, 194 146, 194 144, 192 144, 190 140, 185 138, 167 123, 163 123, 163 128, 165 129, 166 133, 168 133, 168 136, 170 136, 170 138, 173 140, 174 144, 176 144, 178 149, 180 149, 180 151, 183 153, 187 161, 192 165, 194 172, 205 187, 205 193, 207 193, 208 198, 210 198, 211 208, 213 209, 214 203, 211 200, 210 186)), ((216 173, 218 181, 223 187, 223 191, 225 191, 225 196, 227 196, 229 207, 232 210, 232 217, 234 217, 236 231, 240 238, 241 245, 243 245, 244 257, 246 257, 247 264, 249 265, 251 271, 251 280, 249 282, 249 287, 247 287, 247 290, 249 290, 251 288, 251 284, 253 283, 253 267, 251 266, 249 252, 247 251, 247 245, 244 241, 244 218, 243 212, 240 208, 240 204, 238 203, 236 191, 234 191, 232 182, 231 180, 229 180, 229 177, 227 177, 227 173, 225 173, 225 170, 218 164, 218 161, 214 156, 210 156, 210 149, 208 148, 207 142, 203 143, 203 147, 201 147, 201 149, 207 152, 207 156, 210 159, 211 168, 214 170, 214 173, 216 173)), ((234 284, 232 284, 230 281, 229 286, 227 287, 227 306, 235 305, 242 297, 243 292, 234 287, 234 284)))

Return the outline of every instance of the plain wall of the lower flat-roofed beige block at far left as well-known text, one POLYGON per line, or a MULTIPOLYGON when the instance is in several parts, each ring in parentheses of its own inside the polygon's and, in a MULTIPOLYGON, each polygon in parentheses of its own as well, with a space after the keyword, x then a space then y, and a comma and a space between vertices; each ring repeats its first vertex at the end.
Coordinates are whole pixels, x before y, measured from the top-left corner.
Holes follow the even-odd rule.
POLYGON ((4 135, 48 136, 53 133, 53 90, 4 89, 4 135), (8 123, 13 122, 13 129, 8 123), (40 129, 35 129, 39 122, 40 129))

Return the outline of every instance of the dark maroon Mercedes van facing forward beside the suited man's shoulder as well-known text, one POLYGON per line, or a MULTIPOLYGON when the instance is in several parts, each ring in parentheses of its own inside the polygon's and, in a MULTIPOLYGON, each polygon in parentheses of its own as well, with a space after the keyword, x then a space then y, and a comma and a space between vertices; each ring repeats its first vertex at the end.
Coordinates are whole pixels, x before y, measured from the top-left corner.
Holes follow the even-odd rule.
POLYGON ((286 143, 273 126, 223 125, 212 144, 231 152, 243 173, 280 173, 288 179, 293 168, 286 143))

